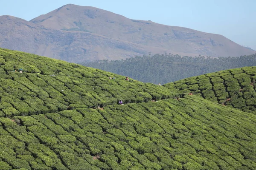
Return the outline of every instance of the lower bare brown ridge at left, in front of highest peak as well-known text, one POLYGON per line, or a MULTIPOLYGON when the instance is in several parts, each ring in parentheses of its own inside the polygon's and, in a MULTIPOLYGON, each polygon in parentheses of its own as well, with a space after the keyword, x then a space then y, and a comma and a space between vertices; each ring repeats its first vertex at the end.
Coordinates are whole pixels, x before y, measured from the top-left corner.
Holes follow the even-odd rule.
MULTIPOLYGON (((134 51, 134 55, 139 55, 139 53, 144 54, 150 50, 147 46, 97 34, 45 28, 12 16, 0 16, 0 29, 3 30, 0 33, 0 47, 69 62, 121 59, 131 57, 131 51, 134 51), (113 50, 116 53, 113 53, 113 50), (118 51, 122 53, 122 56, 117 55, 118 51)), ((158 52, 163 51, 157 50, 158 48, 152 49, 158 52)))

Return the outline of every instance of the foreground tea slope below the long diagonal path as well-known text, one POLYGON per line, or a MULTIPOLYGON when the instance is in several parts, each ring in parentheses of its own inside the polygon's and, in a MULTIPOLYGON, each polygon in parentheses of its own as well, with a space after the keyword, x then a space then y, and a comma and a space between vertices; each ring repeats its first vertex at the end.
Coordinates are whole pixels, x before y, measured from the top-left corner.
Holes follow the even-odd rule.
POLYGON ((0 118, 0 167, 255 169, 256 116, 205 101, 185 96, 0 118))

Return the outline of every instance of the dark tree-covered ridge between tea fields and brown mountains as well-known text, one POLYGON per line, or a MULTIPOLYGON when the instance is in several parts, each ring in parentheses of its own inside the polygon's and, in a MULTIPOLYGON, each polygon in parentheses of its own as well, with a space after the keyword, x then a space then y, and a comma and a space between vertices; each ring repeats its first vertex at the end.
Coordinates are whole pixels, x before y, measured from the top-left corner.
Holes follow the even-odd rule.
POLYGON ((129 76, 142 82, 166 84, 188 77, 230 68, 256 65, 256 54, 240 57, 181 57, 173 54, 144 55, 125 60, 99 60, 81 65, 129 76))

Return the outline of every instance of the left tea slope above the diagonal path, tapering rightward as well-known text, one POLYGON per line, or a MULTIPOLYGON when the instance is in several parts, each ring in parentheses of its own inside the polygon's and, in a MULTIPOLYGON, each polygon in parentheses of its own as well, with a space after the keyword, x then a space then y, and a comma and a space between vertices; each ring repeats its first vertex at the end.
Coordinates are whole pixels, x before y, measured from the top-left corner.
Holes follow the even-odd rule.
POLYGON ((151 83, 47 57, 0 49, 0 117, 174 98, 151 83), (23 73, 13 70, 23 68, 23 73), (115 77, 116 79, 109 79, 115 77))

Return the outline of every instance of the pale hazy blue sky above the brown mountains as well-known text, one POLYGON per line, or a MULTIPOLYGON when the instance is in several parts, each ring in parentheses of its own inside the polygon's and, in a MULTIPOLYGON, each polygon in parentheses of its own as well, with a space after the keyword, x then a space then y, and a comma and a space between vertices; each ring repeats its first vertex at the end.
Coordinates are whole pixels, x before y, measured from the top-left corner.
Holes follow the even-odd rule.
POLYGON ((256 0, 0 0, 0 15, 31 20, 69 3, 221 34, 256 50, 256 0))

